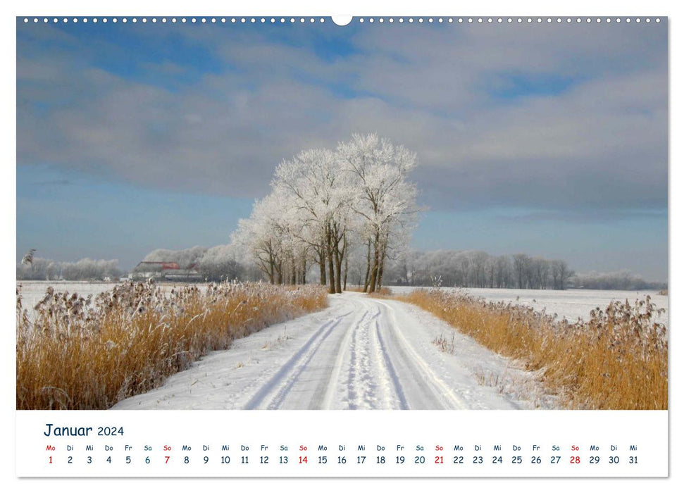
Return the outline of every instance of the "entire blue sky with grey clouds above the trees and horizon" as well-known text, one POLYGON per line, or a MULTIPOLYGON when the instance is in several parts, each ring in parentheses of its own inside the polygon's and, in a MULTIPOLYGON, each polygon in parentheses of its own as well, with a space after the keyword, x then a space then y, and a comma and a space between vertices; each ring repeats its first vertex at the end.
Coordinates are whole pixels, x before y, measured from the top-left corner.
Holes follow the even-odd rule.
POLYGON ((417 249, 667 276, 666 23, 17 23, 17 255, 230 241, 275 166, 416 151, 417 249))

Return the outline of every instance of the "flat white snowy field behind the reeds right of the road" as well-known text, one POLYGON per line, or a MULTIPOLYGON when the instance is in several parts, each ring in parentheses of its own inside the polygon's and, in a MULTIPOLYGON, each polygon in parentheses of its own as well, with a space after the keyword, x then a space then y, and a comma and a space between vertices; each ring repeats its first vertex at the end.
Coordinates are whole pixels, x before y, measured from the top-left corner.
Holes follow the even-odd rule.
MULTIPOLYGON (((428 289, 405 286, 392 286, 392 293, 402 294, 411 292, 413 289, 428 289)), ((456 289, 456 288, 442 288, 456 289)), ((668 297, 657 294, 655 291, 602 291, 598 289, 566 289, 554 291, 553 289, 496 289, 496 288, 459 288, 459 290, 471 294, 473 297, 483 298, 487 301, 504 301, 523 306, 530 306, 535 311, 546 310, 546 313, 556 313, 559 319, 567 318, 575 322, 578 318, 588 320, 590 311, 594 308, 605 309, 611 301, 629 301, 651 297, 652 303, 657 308, 665 308, 665 313, 658 318, 660 323, 667 325, 668 297)))

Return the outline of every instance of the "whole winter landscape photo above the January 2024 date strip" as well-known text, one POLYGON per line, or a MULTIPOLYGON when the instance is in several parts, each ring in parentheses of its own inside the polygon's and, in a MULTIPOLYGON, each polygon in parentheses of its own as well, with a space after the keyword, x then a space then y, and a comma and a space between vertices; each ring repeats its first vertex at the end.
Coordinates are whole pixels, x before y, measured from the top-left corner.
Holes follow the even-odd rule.
POLYGON ((18 18, 17 409, 667 409, 667 30, 18 18))

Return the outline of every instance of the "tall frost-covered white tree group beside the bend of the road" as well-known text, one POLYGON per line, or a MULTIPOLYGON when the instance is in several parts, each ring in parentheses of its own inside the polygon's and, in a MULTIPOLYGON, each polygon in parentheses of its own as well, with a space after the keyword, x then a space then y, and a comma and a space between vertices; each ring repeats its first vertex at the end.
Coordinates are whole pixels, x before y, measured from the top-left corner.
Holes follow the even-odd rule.
POLYGON ((366 292, 383 285, 385 264, 416 220, 416 154, 377 135, 301 151, 275 170, 271 193, 240 220, 232 240, 272 283, 306 283, 312 264, 330 293, 347 287, 352 251, 365 252, 366 292))

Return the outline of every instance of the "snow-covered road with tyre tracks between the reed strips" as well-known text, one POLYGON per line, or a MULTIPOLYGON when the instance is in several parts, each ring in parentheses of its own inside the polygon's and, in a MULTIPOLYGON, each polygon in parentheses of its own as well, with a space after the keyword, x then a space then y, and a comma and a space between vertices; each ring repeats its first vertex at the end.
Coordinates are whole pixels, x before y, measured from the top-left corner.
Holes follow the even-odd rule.
POLYGON ((114 408, 544 407, 537 387, 534 375, 419 308, 345 293, 330 297, 324 311, 239 339, 114 408), (437 347, 439 337, 449 351, 437 347))

